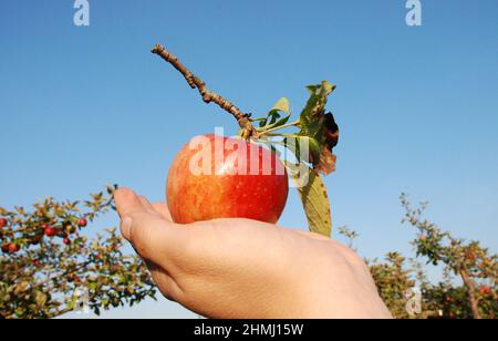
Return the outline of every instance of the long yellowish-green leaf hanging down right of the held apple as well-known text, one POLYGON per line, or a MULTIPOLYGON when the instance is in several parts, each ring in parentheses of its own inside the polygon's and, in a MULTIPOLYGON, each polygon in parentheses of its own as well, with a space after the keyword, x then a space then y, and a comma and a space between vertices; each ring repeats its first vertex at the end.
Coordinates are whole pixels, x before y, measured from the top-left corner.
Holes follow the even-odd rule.
MULTIPOLYGON (((286 166, 289 175, 295 182, 299 178, 298 165, 286 163, 286 166)), ((298 192, 308 218, 309 229, 312 232, 331 237, 332 217, 325 185, 314 169, 307 168, 307 172, 309 172, 307 185, 298 188, 298 192)))

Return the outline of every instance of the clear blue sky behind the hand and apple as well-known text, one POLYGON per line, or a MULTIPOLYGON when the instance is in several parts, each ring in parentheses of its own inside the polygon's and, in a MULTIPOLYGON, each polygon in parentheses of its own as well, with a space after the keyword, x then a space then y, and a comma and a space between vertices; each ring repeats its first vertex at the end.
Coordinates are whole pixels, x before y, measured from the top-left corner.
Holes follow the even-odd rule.
MULTIPOLYGON (((326 179, 335 226, 361 232, 365 257, 411 255, 402 192, 428 216, 498 250, 498 2, 405 1, 0 2, 0 205, 81 198, 106 183, 164 199, 168 166, 191 136, 235 132, 179 74, 148 51, 166 44, 210 87, 263 113, 304 85, 339 85, 342 128, 326 179), (231 130, 231 131, 230 131, 231 130)), ((110 216, 103 221, 116 226, 110 216)), ((283 226, 305 228, 292 194, 283 226)), ((160 300, 108 317, 185 317, 160 300)))

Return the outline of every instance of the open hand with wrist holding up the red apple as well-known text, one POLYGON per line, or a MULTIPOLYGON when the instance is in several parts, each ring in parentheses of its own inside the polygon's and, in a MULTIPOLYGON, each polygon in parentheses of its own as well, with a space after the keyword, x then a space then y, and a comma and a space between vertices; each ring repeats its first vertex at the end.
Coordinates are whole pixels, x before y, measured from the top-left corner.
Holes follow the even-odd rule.
POLYGON ((208 318, 391 318, 365 262, 329 238, 274 225, 172 221, 166 204, 115 193, 121 229, 160 292, 208 318))

